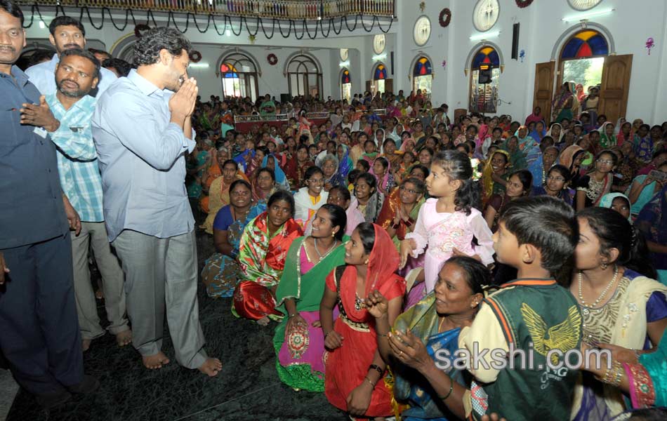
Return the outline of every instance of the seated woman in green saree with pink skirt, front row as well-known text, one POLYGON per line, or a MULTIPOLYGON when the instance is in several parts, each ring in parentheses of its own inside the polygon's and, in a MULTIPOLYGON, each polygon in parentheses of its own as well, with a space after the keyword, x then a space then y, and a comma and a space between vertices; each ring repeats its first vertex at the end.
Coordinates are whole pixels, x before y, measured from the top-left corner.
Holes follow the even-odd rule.
POLYGON ((294 389, 324 392, 324 335, 319 302, 324 279, 345 264, 345 210, 322 205, 312 220, 312 234, 293 241, 276 290, 277 309, 285 317, 276 328, 273 345, 278 377, 294 389))

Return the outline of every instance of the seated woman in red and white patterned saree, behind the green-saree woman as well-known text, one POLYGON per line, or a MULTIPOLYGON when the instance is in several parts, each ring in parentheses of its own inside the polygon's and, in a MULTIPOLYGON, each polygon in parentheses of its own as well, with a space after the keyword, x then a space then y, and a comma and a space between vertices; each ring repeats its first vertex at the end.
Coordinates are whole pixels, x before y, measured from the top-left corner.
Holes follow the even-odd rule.
POLYGON ((239 284, 234 291, 232 313, 265 326, 269 318, 282 318, 275 292, 282 276, 287 250, 303 235, 293 220, 294 199, 279 190, 271 195, 267 210, 246 225, 239 246, 239 284))

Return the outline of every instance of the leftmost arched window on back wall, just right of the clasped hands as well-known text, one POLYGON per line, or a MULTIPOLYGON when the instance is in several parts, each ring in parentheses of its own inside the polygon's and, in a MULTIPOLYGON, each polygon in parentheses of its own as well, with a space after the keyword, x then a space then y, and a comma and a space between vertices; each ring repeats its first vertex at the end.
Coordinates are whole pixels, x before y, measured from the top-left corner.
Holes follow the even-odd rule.
POLYGON ((225 97, 257 99, 257 69, 255 63, 243 53, 227 55, 220 63, 220 81, 225 97))

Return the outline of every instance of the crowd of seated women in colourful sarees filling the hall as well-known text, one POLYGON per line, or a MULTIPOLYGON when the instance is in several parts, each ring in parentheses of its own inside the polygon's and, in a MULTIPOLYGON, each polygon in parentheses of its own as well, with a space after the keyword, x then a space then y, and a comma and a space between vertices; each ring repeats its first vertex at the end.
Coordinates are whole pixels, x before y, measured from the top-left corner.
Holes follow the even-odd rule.
MULTIPOLYGON (((376 420, 477 419, 484 402, 508 420, 606 420, 667 405, 667 122, 583 112, 557 123, 531 114, 527 126, 479 114, 451 123, 446 105, 432 109, 421 93, 295 105, 283 127, 200 131, 188 167, 216 247, 202 271, 207 293, 275 330, 286 385, 376 420), (306 109, 331 119, 318 126, 306 109), (565 235, 557 215, 526 238, 528 228, 510 227, 531 206, 571 214, 569 251, 541 239, 565 235), (537 245, 538 256, 503 258, 511 236, 503 247, 537 245), (563 377, 568 393, 505 396, 515 407, 493 403, 489 385, 504 374, 434 370, 437 349, 475 340, 494 291, 531 262, 546 267, 548 253, 563 253, 546 273, 576 302, 576 347, 609 349, 609 368, 582 365, 563 377), (563 412, 531 405, 537 396, 563 412)), ((216 114, 222 125, 229 106, 216 114)), ((199 115, 210 123, 220 107, 212 98, 199 115)))

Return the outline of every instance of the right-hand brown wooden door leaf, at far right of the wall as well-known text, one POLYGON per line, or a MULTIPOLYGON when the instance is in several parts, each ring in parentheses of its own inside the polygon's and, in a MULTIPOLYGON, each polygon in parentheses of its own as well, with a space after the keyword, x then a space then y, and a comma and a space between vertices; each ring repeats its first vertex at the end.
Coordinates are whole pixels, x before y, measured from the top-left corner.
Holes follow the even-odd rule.
POLYGON ((632 54, 609 55, 605 58, 597 114, 605 114, 607 121, 618 121, 619 118, 626 116, 632 67, 632 54))

